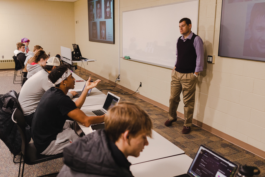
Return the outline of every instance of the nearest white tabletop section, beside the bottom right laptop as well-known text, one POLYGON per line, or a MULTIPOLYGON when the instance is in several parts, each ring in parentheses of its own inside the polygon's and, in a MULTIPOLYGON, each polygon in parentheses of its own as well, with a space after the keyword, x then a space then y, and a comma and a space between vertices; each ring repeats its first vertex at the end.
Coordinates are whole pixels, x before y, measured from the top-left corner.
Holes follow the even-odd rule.
POLYGON ((187 173, 191 163, 192 158, 182 154, 131 165, 130 171, 135 177, 173 177, 187 173))

